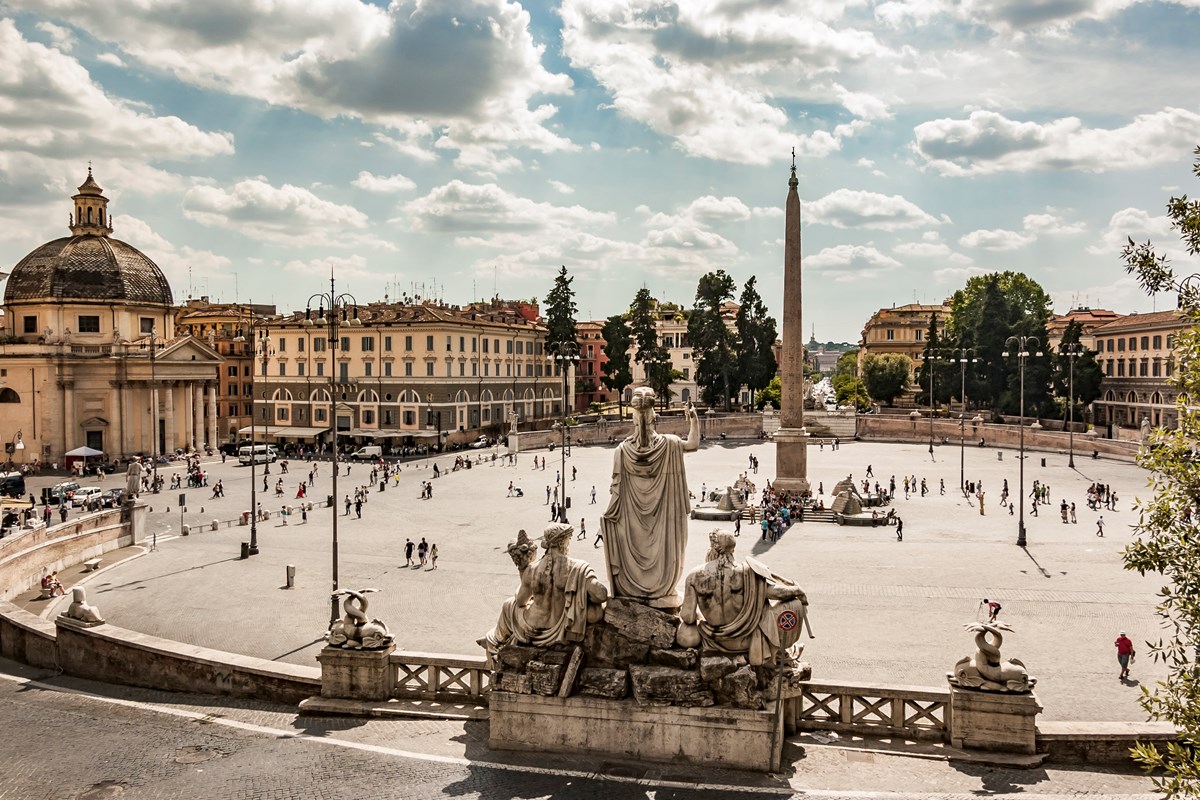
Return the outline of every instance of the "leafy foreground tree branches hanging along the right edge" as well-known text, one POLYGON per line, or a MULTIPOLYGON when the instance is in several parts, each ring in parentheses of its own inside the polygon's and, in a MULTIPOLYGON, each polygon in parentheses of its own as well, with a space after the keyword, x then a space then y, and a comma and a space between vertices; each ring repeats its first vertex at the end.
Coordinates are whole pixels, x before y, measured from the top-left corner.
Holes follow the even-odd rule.
MULTIPOLYGON (((1200 178, 1200 148, 1193 173, 1200 178)), ((1200 255, 1200 203, 1187 196, 1166 205, 1171 228, 1180 233, 1190 255, 1200 255)), ((1158 615, 1168 638, 1148 642, 1151 656, 1168 667, 1166 679, 1154 691, 1142 690, 1142 708, 1151 717, 1171 722, 1178 741, 1165 747, 1138 745, 1134 758, 1162 770, 1158 789, 1169 798, 1200 795, 1200 275, 1177 278, 1166 255, 1147 241, 1133 239, 1121 252, 1126 271, 1135 275, 1150 294, 1174 291, 1184 329, 1175 341, 1178 368, 1172 378, 1178 390, 1178 428, 1158 428, 1138 463, 1151 470, 1154 495, 1140 505, 1134 527, 1138 539, 1123 553, 1126 569, 1162 575, 1158 615)))

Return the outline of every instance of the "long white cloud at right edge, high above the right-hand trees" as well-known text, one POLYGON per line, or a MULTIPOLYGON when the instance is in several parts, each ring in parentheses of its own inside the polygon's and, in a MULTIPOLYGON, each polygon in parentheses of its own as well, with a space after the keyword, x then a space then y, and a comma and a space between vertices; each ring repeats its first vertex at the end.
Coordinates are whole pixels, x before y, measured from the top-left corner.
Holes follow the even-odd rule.
POLYGON ((1124 127, 1088 128, 1078 118, 1019 122, 976 110, 965 120, 940 119, 913 130, 913 150, 942 175, 1074 169, 1136 169, 1178 157, 1200 139, 1200 113, 1165 108, 1124 127))

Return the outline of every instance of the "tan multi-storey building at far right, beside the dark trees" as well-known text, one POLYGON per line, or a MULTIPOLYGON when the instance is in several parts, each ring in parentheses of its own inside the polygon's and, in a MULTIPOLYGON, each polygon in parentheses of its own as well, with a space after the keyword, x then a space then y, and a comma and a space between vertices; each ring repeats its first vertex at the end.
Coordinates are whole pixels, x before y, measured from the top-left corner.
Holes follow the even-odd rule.
POLYGON ((1100 398, 1092 408, 1096 426, 1116 435, 1116 427, 1139 428, 1178 425, 1175 410, 1175 338, 1184 321, 1177 311, 1129 314, 1096 327, 1096 360, 1104 378, 1100 398))

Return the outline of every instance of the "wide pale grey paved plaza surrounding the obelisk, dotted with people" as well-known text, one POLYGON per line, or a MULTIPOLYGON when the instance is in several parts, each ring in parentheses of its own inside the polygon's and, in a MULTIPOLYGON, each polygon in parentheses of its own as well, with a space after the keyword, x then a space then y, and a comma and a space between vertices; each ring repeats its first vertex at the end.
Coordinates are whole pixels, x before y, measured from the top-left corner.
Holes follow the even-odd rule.
MULTIPOLYGON (((751 455, 761 469, 749 477, 761 488, 773 476, 769 443, 704 443, 686 457, 689 485, 698 495, 702 486, 732 483, 746 471, 751 455)), ((378 485, 372 488, 361 519, 353 511, 338 517, 341 585, 380 590, 371 595, 371 615, 389 624, 400 649, 479 654, 475 640, 517 585, 504 547, 518 529, 536 535, 548 521, 546 486, 554 482, 559 456, 521 453, 516 467, 488 462, 443 474, 432 481, 430 500, 418 495, 421 481, 432 480, 433 459, 406 464, 398 487, 382 493, 378 485), (545 471, 533 469, 534 455, 546 457, 545 471), (523 498, 506 497, 510 481, 524 489, 523 498), (438 545, 436 571, 406 569, 406 537, 438 545)), ((769 545, 743 524, 738 554, 755 555, 808 591, 816 638, 806 640, 805 658, 812 663, 814 680, 944 686, 947 670, 973 650, 962 625, 978 618, 980 600, 989 597, 1003 604, 1001 619, 1014 628, 1006 637, 1006 655, 1025 661, 1038 678, 1044 718, 1144 720, 1139 681, 1153 682, 1163 674, 1142 645, 1157 634, 1153 604, 1159 581, 1124 571, 1120 551, 1130 539, 1129 525, 1136 519, 1133 501, 1145 493, 1146 475, 1127 462, 1082 457, 1076 458, 1078 469, 1069 470, 1066 455, 1030 453, 1026 493, 1034 479, 1045 481, 1051 505, 1042 506, 1038 517, 1031 517, 1026 505, 1028 548, 1021 549, 1014 543, 1016 517, 997 505, 1004 479, 1016 493, 1016 453, 966 447, 967 480, 983 481, 986 491, 985 516, 953 489, 959 458, 956 444, 936 447, 932 459, 919 445, 810 447, 809 474, 814 487, 823 483, 827 503, 839 479, 850 474, 860 479, 868 464, 882 483, 894 474, 899 485, 904 473, 926 480, 928 497, 906 500, 900 492, 894 504, 905 521, 902 542, 895 540, 894 528, 809 522, 769 545), (943 479, 946 495, 938 494, 943 479), (1092 481, 1112 485, 1120 497, 1116 512, 1103 512, 1103 539, 1094 533, 1098 513, 1085 503, 1092 481), (1062 524, 1062 498, 1075 503, 1078 524, 1062 524), (1118 630, 1128 631, 1144 652, 1133 670, 1135 680, 1128 682, 1117 679, 1112 640, 1118 630)), ((436 461, 449 469, 454 457, 436 461)), ((611 462, 607 446, 576 447, 566 462, 570 518, 576 527, 586 521, 588 531, 586 541, 572 543, 571 554, 589 560, 601 575, 604 549, 593 547, 593 541, 607 500, 611 462)), ((233 459, 227 464, 215 459, 205 468, 214 481, 224 481, 227 498, 214 501, 210 489, 187 489, 185 522, 232 519, 250 507, 248 468, 233 459)), ((329 463, 318 471, 310 498, 324 498, 330 489, 329 463)), ((367 483, 368 473, 370 467, 354 464, 350 475, 340 479, 338 493, 344 497, 367 483)), ((283 476, 284 499, 259 493, 264 507, 295 503, 296 486, 306 474, 306 465, 293 462, 283 476)), ((270 486, 278 476, 276 465, 270 486)), ((122 480, 112 476, 104 483, 122 480)), ((296 524, 298 516, 287 527, 276 518, 260 523, 262 553, 244 561, 238 552, 248 528, 212 533, 204 525, 200 533, 179 537, 178 492, 146 497, 154 506, 150 525, 162 534, 158 549, 90 581, 89 597, 104 616, 156 636, 316 666, 329 619, 330 510, 314 510, 306 525, 296 524), (282 588, 289 564, 296 566, 293 590, 282 588)), ((343 511, 338 503, 336 512, 343 511)), ((714 525, 732 523, 690 523, 688 569, 702 561, 706 534, 714 525)))

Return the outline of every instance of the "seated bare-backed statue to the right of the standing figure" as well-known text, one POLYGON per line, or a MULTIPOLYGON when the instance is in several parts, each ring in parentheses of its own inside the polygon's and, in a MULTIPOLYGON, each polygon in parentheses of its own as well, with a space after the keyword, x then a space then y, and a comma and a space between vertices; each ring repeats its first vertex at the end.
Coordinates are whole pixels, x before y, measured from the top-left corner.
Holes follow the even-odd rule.
POLYGON ((760 561, 736 563, 733 534, 714 530, 708 542, 707 563, 684 581, 676 640, 683 648, 745 655, 754 666, 770 663, 780 648, 787 650, 799 639, 808 624, 808 596, 760 561), (796 624, 784 631, 778 619, 787 610, 796 624))

